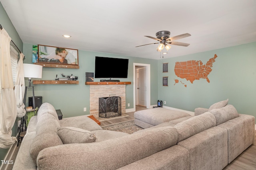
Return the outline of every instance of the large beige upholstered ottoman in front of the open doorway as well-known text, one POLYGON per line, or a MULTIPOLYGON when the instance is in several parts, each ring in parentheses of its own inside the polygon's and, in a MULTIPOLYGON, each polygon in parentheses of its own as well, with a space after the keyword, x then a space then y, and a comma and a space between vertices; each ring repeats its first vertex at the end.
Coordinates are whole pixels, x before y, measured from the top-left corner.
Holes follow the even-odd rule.
POLYGON ((156 107, 153 109, 136 111, 134 113, 134 123, 135 125, 146 129, 182 117, 191 117, 191 115, 183 111, 156 107))

